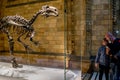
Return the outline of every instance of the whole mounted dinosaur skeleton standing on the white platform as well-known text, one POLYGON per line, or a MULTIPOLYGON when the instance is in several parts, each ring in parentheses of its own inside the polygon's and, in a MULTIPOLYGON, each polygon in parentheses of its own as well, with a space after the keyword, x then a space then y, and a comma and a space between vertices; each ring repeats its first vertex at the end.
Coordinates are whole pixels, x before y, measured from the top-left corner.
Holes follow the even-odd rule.
POLYGON ((41 10, 39 10, 37 13, 33 15, 31 20, 27 20, 19 15, 7 16, 7 17, 3 17, 2 19, 0 19, 0 31, 5 33, 8 37, 8 42, 9 42, 9 47, 10 47, 9 51, 12 56, 13 68, 17 68, 19 67, 19 65, 17 64, 16 59, 14 57, 14 53, 13 53, 14 40, 10 32, 13 31, 17 33, 18 34, 17 41, 20 42, 24 46, 26 51, 30 50, 29 46, 21 40, 21 37, 25 35, 24 39, 29 38, 31 42, 33 42, 35 45, 38 45, 38 41, 33 40, 33 37, 35 34, 33 23, 38 17, 38 15, 43 15, 46 17, 58 16, 58 10, 55 7, 45 5, 45 6, 42 6, 41 10))

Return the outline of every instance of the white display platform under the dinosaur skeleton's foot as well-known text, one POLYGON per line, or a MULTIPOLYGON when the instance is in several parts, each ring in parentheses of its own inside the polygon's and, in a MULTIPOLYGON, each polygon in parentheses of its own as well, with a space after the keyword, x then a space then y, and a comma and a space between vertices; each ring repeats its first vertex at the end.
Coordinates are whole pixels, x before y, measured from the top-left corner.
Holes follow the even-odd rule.
MULTIPOLYGON (((66 70, 66 80, 80 80, 81 72, 66 70)), ((11 63, 0 62, 0 80, 64 80, 64 69, 23 65, 12 68, 11 63)))

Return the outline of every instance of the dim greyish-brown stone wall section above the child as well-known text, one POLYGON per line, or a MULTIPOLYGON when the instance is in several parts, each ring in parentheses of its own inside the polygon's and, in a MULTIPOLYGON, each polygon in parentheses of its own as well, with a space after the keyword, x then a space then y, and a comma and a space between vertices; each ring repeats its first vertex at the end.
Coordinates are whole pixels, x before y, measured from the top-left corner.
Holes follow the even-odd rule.
POLYGON ((96 55, 104 35, 112 31, 110 0, 93 0, 92 6, 92 54, 96 55))

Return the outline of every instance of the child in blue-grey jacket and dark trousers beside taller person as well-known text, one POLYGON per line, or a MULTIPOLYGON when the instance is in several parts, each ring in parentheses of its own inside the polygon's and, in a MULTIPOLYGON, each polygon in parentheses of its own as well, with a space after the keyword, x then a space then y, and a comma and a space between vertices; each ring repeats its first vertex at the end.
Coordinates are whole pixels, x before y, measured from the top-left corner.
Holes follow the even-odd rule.
POLYGON ((95 67, 99 67, 99 80, 102 80, 103 73, 105 73, 106 80, 109 80, 110 58, 107 44, 108 41, 104 38, 95 59, 95 67))

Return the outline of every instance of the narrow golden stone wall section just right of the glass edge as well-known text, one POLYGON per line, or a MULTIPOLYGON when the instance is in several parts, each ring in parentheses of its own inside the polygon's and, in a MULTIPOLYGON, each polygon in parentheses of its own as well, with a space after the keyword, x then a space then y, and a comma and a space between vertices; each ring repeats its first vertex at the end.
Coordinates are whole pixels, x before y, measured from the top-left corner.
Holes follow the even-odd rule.
POLYGON ((80 68, 85 53, 85 0, 67 1, 67 52, 69 67, 80 68))

